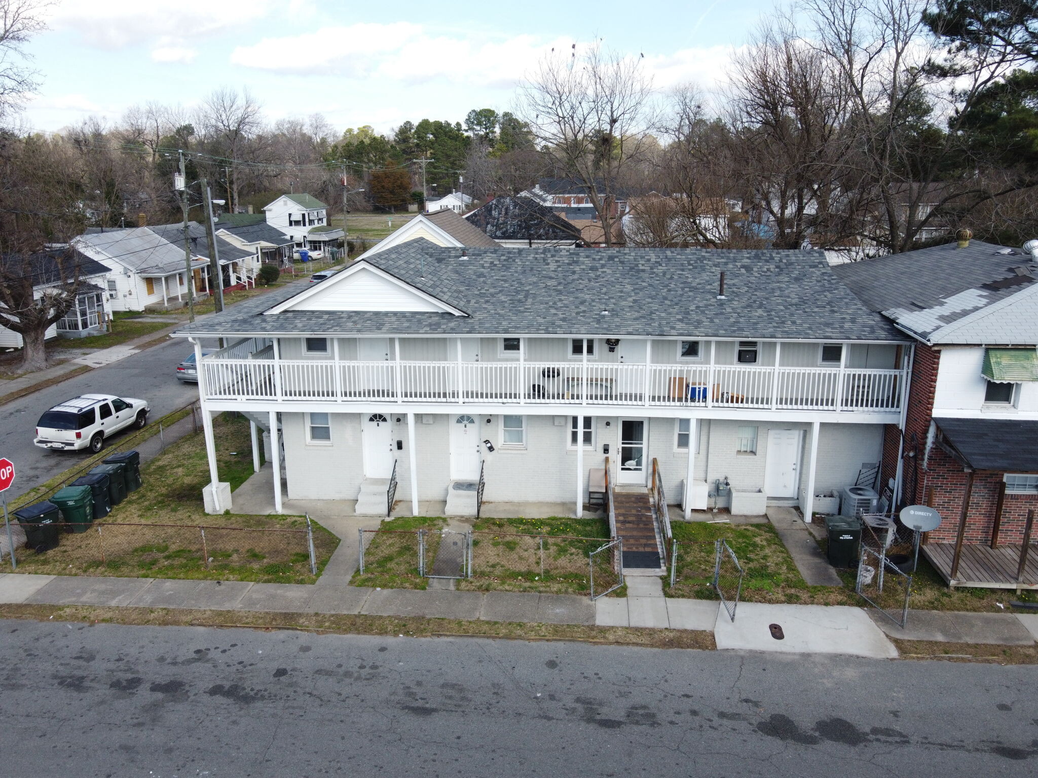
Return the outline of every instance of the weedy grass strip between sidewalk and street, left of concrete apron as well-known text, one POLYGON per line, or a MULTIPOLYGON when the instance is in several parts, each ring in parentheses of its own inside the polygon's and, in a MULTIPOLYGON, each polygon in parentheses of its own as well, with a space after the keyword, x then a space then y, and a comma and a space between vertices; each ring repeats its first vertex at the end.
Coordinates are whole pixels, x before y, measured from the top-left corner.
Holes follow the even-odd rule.
POLYGON ((337 613, 278 613, 173 608, 114 608, 83 605, 0 605, 0 618, 79 621, 145 627, 218 627, 251 630, 302 630, 331 635, 384 637, 483 637, 507 640, 565 640, 644 648, 714 650, 713 634, 693 630, 628 627, 467 621, 418 616, 337 613))

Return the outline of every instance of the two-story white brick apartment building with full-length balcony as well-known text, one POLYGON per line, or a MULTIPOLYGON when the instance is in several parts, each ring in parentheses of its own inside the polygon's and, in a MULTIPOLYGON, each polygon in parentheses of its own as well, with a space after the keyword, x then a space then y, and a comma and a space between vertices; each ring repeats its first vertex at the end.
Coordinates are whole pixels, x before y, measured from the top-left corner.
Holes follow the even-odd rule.
POLYGON ((212 413, 274 430, 278 509, 283 490, 356 500, 394 474, 414 512, 482 480, 485 501, 579 516, 592 471, 637 489, 655 461, 685 510, 727 478, 741 506, 810 517, 879 462, 910 357, 822 252, 420 239, 175 335, 230 339, 198 352, 210 456, 212 413))

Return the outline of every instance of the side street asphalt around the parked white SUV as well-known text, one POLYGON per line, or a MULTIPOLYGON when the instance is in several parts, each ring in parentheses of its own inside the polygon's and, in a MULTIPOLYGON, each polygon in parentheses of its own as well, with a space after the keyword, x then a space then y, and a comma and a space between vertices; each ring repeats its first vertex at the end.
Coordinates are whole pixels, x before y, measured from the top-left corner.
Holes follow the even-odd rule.
MULTIPOLYGON (((80 394, 100 392, 146 399, 151 404, 148 418, 158 419, 198 396, 194 384, 183 384, 175 377, 176 365, 191 349, 192 345, 183 339, 170 340, 0 407, 3 418, 0 456, 13 462, 16 471, 8 499, 53 478, 89 455, 86 450, 49 451, 33 445, 36 420, 44 411, 80 394)), ((113 440, 126 434, 118 433, 113 440)))

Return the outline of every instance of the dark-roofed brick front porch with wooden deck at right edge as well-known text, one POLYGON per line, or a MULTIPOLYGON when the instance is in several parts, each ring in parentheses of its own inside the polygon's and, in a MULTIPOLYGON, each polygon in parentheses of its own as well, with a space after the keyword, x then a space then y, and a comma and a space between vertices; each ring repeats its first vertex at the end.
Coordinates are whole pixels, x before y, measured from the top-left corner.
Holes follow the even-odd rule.
POLYGON ((1038 589, 1038 421, 934 421, 927 502, 945 521, 923 556, 953 588, 1038 589))

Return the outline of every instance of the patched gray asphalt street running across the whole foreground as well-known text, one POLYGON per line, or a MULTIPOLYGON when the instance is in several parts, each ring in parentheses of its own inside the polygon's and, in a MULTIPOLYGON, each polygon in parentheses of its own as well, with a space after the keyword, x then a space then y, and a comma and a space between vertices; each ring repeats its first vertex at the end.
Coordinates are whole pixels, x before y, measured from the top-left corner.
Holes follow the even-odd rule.
POLYGON ((1032 776, 1038 667, 0 621, 0 775, 1032 776))

